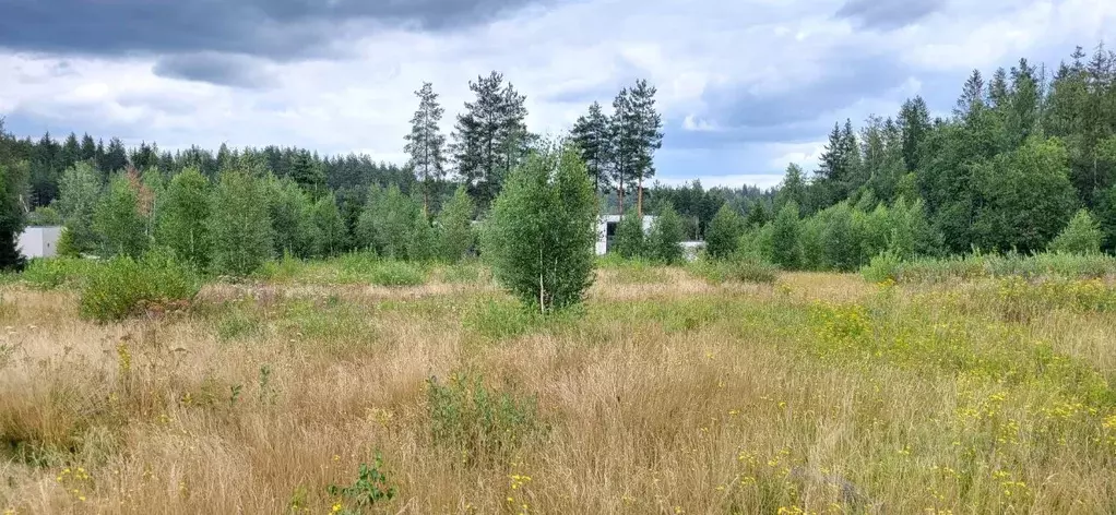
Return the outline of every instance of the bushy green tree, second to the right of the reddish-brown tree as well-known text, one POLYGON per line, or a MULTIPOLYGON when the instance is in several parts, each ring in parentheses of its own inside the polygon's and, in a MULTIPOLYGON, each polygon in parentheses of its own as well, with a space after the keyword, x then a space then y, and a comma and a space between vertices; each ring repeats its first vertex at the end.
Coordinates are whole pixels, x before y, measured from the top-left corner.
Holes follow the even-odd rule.
POLYGON ((261 202, 268 187, 256 169, 242 161, 221 171, 209 227, 210 266, 217 274, 248 276, 271 256, 271 220, 268 203, 261 202))

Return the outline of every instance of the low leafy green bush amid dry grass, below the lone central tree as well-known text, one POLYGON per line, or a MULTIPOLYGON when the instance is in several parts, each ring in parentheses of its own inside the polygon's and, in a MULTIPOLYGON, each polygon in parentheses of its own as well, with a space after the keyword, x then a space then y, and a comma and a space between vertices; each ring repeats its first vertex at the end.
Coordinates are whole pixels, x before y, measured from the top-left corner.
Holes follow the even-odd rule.
POLYGON ((490 388, 480 376, 431 378, 426 401, 434 441, 459 450, 469 465, 506 459, 545 428, 533 396, 490 388))

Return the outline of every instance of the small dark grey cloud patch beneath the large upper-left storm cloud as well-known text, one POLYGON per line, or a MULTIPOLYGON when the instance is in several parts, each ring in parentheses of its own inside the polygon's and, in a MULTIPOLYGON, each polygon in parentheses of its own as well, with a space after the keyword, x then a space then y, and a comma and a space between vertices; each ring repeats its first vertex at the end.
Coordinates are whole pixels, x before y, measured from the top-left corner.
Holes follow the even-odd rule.
POLYGON ((152 71, 161 77, 219 86, 259 88, 270 77, 250 57, 228 54, 184 54, 160 58, 152 71))

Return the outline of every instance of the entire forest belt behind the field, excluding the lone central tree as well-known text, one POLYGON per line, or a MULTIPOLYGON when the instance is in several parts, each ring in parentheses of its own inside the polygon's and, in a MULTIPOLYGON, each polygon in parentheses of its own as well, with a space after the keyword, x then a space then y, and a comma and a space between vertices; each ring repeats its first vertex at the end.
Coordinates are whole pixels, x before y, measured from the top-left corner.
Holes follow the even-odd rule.
MULTIPOLYGON (((817 169, 791 164, 771 191, 654 183, 654 153, 664 135, 656 89, 645 80, 624 88, 609 114, 594 103, 564 137, 580 149, 602 213, 672 210, 679 214, 672 223, 681 224, 673 232, 683 240, 712 239, 714 255, 750 254, 790 270, 850 271, 885 251, 899 258, 974 250, 1026 254, 1048 250, 1070 220, 1089 234, 1100 231, 1099 250, 1110 252, 1114 76, 1116 57, 1103 43, 1091 52, 1078 47, 1052 69, 1020 59, 1007 69, 973 70, 950 115, 932 117, 915 97, 894 116, 873 115, 859 128, 848 119, 837 123, 817 169)), ((257 262, 364 249, 444 256, 416 243, 433 241, 444 207, 483 218, 510 171, 546 144, 523 123, 526 97, 501 74, 479 76, 470 89, 475 99, 456 116, 450 138, 433 86, 415 91, 419 107, 403 137, 411 156, 405 164, 294 147, 172 153, 155 143, 126 148, 118 138, 106 145, 88 134, 37 140, 3 134, 6 233, 22 223, 64 223, 70 254, 138 255, 148 245, 179 245, 170 240, 189 224, 196 225, 192 234, 205 234, 198 241, 220 240, 232 230, 219 226, 220 214, 231 210, 258 214, 257 262), (225 177, 233 172, 244 177, 225 177), (220 195, 227 197, 214 202, 220 195), (454 204, 466 202, 461 195, 468 205, 454 204), (243 211, 253 203, 259 205, 243 211), (411 241, 411 250, 377 239, 373 225, 411 241)), ((196 261, 209 266, 212 260, 196 261)))

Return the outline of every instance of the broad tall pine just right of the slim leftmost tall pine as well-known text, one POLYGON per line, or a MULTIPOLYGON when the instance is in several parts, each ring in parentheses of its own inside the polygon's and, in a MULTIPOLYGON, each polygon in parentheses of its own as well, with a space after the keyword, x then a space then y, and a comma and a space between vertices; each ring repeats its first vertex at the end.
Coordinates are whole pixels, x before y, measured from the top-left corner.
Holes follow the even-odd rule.
POLYGON ((504 85, 497 71, 470 81, 469 89, 477 98, 466 101, 465 113, 458 115, 452 150, 470 195, 487 208, 530 142, 523 124, 526 97, 516 93, 510 82, 504 85))

